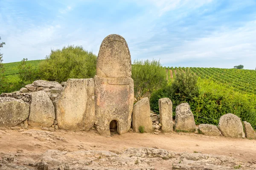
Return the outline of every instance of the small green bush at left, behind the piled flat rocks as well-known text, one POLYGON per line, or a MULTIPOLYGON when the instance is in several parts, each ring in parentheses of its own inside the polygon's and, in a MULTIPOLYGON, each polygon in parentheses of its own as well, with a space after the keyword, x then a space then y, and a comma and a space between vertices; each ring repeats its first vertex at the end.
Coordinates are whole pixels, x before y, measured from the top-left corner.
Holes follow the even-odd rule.
POLYGON ((36 79, 36 71, 31 64, 27 63, 28 59, 23 58, 18 66, 19 78, 23 85, 30 84, 36 79))

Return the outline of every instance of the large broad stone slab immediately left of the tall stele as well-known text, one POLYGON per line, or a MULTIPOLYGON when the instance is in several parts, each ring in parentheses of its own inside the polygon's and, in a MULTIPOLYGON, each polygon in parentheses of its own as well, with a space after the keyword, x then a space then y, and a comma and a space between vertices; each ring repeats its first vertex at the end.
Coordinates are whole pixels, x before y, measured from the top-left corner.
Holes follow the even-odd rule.
POLYGON ((60 129, 90 130, 95 118, 93 79, 68 79, 55 111, 60 129))

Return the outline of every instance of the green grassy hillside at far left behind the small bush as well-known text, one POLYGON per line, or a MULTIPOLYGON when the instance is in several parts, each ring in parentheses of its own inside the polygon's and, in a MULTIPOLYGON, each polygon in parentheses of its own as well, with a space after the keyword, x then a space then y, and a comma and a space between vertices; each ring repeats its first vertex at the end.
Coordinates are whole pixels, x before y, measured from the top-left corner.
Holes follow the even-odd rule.
MULTIPOLYGON (((39 60, 30 60, 27 61, 28 64, 32 65, 32 68, 38 68, 39 63, 42 61, 42 59, 39 60)), ((4 63, 5 68, 5 76, 8 82, 18 82, 19 79, 19 72, 18 72, 18 65, 20 65, 21 62, 10 62, 10 63, 4 63)))

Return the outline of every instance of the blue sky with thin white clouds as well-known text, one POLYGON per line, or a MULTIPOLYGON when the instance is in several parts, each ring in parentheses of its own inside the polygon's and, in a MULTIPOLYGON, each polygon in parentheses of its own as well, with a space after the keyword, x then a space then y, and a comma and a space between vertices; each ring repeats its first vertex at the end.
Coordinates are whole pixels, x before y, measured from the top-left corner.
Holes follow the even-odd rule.
POLYGON ((125 38, 132 61, 256 68, 256 0, 0 0, 4 63, 67 45, 98 55, 109 34, 125 38))

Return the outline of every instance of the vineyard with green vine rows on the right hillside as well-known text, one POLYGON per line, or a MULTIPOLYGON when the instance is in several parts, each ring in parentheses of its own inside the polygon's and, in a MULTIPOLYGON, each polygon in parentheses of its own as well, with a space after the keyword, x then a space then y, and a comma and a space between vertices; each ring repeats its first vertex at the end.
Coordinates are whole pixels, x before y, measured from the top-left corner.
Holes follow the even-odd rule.
POLYGON ((256 71, 244 69, 226 68, 170 68, 170 78, 175 76, 177 70, 186 71, 190 69, 201 79, 211 79, 216 83, 224 84, 233 91, 242 94, 256 94, 256 71))

